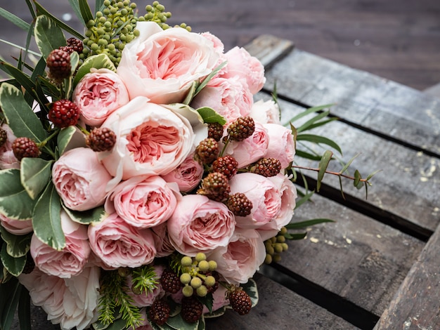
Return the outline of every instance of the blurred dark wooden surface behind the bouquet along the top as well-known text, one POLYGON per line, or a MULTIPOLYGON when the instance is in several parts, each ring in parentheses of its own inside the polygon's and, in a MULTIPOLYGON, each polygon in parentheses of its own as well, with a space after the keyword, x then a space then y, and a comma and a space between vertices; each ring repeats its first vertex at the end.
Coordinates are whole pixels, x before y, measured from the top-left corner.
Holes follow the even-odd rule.
MULTIPOLYGON (((40 0, 78 27, 67 0, 40 0)), ((94 0, 89 1, 92 8, 94 0)), ((152 1, 134 1, 143 8, 152 1)), ((169 22, 209 31, 226 50, 259 34, 290 39, 298 48, 386 79, 425 89, 440 82, 439 0, 162 0, 169 22)), ((2 8, 30 20, 24 0, 0 0, 2 8)), ((0 39, 25 44, 25 33, 0 18, 0 39)), ((1 44, 0 55, 12 51, 1 44)))

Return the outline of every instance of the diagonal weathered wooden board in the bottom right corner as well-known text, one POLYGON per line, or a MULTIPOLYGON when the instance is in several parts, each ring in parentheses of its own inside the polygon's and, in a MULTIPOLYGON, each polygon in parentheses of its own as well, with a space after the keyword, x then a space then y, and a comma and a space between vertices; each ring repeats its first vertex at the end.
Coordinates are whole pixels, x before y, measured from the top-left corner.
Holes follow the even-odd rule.
POLYGON ((440 329, 440 227, 377 322, 382 329, 440 329))

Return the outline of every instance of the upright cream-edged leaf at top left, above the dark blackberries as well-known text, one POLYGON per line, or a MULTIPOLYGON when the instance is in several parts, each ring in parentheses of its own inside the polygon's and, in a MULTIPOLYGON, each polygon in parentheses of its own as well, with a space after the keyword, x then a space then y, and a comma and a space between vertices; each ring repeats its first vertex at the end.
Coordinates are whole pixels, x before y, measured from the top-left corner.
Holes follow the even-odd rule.
POLYGON ((41 55, 43 55, 45 59, 51 51, 66 45, 63 31, 46 15, 39 15, 37 17, 34 37, 39 51, 41 51, 41 55))

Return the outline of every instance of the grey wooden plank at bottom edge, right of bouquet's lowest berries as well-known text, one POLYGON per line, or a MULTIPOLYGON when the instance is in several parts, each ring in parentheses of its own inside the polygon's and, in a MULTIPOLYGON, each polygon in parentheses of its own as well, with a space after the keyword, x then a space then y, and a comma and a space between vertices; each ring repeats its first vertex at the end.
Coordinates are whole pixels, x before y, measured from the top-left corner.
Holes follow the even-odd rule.
POLYGON ((207 319, 207 329, 216 330, 291 330, 358 329, 328 310, 257 274, 259 303, 250 314, 240 316, 232 310, 218 319, 207 319))

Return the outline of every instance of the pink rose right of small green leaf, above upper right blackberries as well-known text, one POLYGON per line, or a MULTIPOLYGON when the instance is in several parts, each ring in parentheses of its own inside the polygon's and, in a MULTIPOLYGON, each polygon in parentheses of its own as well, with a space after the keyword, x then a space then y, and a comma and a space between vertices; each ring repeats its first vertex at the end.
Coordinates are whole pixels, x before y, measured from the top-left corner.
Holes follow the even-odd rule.
POLYGON ((250 114, 254 99, 245 81, 239 77, 216 76, 195 96, 191 107, 212 107, 231 124, 238 117, 250 114))

